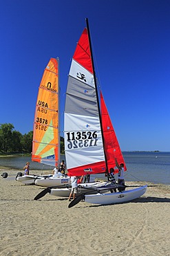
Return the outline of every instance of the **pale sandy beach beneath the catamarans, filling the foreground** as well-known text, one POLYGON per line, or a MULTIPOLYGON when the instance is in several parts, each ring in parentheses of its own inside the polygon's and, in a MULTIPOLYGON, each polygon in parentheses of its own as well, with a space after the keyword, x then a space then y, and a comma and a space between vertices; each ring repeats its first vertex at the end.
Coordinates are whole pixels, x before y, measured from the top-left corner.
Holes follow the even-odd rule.
POLYGON ((49 194, 34 201, 44 188, 12 179, 18 170, 3 172, 0 255, 170 255, 169 185, 149 183, 129 203, 68 208, 67 199, 49 194))

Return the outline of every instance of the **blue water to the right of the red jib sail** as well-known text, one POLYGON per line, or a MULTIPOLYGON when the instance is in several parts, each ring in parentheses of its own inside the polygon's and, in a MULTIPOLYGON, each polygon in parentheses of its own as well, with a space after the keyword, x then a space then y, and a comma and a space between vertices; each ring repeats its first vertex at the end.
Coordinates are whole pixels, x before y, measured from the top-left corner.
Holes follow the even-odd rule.
POLYGON ((170 185, 170 152, 125 152, 123 156, 128 170, 125 180, 170 185))

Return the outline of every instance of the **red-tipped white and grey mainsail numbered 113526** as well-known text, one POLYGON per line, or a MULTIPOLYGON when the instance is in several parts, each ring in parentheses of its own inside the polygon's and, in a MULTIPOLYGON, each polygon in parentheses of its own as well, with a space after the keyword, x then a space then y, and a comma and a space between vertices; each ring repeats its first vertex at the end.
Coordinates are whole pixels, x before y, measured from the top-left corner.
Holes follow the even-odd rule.
POLYGON ((65 158, 70 176, 106 172, 87 28, 72 58, 65 100, 65 158))

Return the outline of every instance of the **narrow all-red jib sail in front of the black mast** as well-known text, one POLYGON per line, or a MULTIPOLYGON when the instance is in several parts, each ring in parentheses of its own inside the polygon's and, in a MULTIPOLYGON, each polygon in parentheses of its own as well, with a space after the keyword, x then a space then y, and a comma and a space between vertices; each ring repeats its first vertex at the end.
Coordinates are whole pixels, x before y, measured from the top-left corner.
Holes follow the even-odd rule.
POLYGON ((107 166, 108 169, 116 167, 116 160, 118 164, 124 163, 124 169, 127 170, 123 154, 118 144, 118 139, 116 138, 116 133, 114 127, 111 123, 107 107, 105 105, 105 100, 103 95, 100 92, 100 108, 101 108, 101 117, 102 117, 102 127, 103 127, 103 136, 104 136, 104 147, 105 154, 107 156, 107 166))

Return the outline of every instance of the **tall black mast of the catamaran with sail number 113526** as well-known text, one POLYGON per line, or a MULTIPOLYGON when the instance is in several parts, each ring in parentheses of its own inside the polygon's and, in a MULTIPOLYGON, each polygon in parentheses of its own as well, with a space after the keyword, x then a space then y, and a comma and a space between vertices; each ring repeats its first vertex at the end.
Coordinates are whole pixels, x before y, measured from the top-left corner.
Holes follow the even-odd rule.
MULTIPOLYGON (((95 89, 96 89, 96 98, 97 98, 97 104, 98 104, 98 115, 99 115, 99 120, 100 120, 100 124, 102 124, 102 120, 101 120, 101 113, 100 113, 100 104, 99 104, 99 100, 98 100, 98 89, 97 89, 97 81, 96 81, 96 72, 95 72, 95 68, 94 68, 94 58, 93 58, 93 53, 92 53, 92 44, 91 44, 91 37, 90 37, 90 33, 89 33, 89 21, 86 18, 86 25, 87 25, 87 33, 88 33, 88 37, 89 37, 89 48, 90 48, 90 52, 91 52, 91 56, 92 56, 92 67, 93 67, 93 71, 94 71, 94 84, 95 84, 95 89)), ((103 127, 101 125, 101 134, 102 134, 102 138, 103 138, 103 147, 104 147, 104 136, 103 136, 103 127)), ((105 165, 106 165, 106 172, 107 172, 107 179, 109 180, 109 170, 108 170, 108 166, 107 166, 107 157, 106 157, 106 153, 105 153, 105 147, 103 148, 104 150, 104 154, 105 154, 105 165)))

